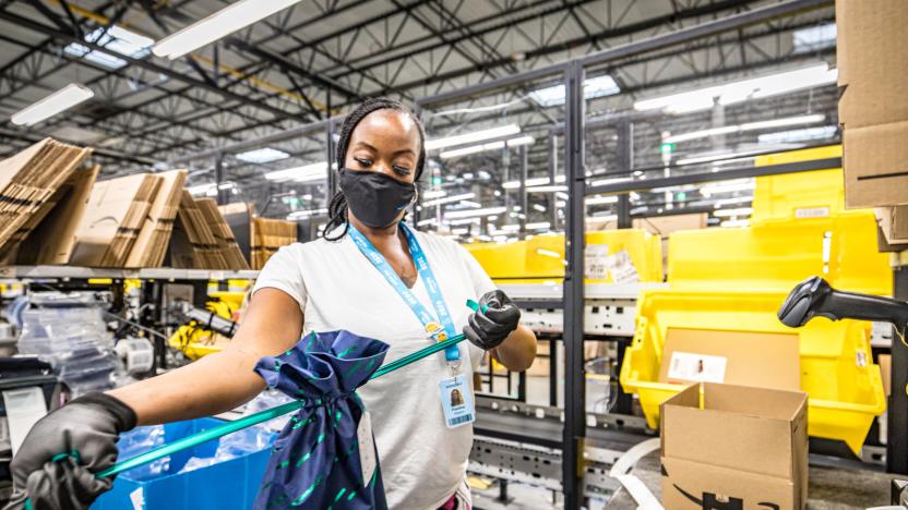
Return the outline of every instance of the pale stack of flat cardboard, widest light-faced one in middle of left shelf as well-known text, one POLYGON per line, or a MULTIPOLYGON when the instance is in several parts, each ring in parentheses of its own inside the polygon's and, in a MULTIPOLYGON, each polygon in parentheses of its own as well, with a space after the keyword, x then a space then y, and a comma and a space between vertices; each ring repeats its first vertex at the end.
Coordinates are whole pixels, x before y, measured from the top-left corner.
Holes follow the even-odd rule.
POLYGON ((70 263, 123 267, 164 179, 138 173, 95 184, 70 263))

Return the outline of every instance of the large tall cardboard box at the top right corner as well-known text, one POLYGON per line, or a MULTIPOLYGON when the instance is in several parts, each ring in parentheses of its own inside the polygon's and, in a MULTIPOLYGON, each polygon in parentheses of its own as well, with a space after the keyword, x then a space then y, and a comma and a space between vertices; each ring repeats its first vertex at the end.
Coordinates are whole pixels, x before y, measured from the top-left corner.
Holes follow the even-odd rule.
POLYGON ((908 204, 908 2, 836 0, 846 207, 908 204))

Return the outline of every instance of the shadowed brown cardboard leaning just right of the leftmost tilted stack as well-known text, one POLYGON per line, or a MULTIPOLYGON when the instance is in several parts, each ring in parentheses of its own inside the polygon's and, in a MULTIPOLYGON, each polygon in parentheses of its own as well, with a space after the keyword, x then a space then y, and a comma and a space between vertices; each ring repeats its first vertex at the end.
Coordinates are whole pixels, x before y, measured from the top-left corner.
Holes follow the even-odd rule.
POLYGON ((5 264, 67 264, 75 244, 75 229, 88 204, 100 167, 70 174, 57 192, 28 217, 0 247, 5 264))

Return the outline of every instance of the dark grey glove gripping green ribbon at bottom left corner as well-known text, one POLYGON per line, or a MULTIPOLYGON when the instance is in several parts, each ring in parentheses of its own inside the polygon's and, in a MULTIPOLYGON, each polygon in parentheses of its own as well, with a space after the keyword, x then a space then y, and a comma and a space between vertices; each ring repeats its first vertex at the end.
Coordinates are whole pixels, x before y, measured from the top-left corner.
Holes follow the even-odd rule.
POLYGON ((35 510, 87 509, 113 484, 94 474, 113 465, 117 438, 135 422, 129 405, 105 393, 80 397, 39 420, 10 464, 7 510, 24 508, 26 498, 35 510))

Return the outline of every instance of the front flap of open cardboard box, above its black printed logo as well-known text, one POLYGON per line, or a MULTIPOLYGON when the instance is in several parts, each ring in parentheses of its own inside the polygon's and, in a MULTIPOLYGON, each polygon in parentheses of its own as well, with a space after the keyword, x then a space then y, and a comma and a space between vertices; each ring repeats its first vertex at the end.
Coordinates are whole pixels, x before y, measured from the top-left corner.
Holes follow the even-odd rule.
POLYGON ((788 478, 792 439, 788 421, 755 414, 673 405, 662 406, 662 456, 788 478))

